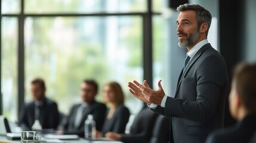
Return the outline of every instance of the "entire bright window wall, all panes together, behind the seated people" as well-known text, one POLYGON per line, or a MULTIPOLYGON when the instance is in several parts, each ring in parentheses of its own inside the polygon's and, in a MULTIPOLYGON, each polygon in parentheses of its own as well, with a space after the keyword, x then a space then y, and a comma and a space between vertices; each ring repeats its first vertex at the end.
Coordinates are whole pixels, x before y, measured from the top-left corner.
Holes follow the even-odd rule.
POLYGON ((17 121, 23 101, 32 99, 30 82, 35 77, 45 80, 47 97, 64 114, 81 100, 80 85, 87 78, 100 85, 98 101, 104 83, 119 82, 125 104, 137 113, 143 104, 129 93, 127 83, 155 83, 165 76, 159 68, 166 47, 163 5, 164 0, 2 0, 4 115, 17 121), (152 55, 145 54, 152 49, 152 55), (145 66, 149 64, 152 69, 145 66))

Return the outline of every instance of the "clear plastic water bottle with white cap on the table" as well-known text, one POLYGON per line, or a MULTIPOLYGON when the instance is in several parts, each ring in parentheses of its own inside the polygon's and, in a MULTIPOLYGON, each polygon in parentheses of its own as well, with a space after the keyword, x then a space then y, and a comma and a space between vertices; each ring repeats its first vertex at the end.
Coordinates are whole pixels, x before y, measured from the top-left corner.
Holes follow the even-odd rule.
POLYGON ((96 133, 96 123, 92 114, 88 114, 87 120, 85 120, 85 138, 94 139, 96 133))

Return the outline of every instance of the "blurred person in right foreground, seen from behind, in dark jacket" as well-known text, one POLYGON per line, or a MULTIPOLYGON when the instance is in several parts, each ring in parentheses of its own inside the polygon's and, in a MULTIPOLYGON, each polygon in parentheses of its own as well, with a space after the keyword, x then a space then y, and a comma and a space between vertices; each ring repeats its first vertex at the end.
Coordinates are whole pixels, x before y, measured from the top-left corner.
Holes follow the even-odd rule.
POLYGON ((229 95, 229 109, 238 120, 235 126, 211 133, 207 143, 249 142, 256 131, 256 63, 239 64, 229 95))

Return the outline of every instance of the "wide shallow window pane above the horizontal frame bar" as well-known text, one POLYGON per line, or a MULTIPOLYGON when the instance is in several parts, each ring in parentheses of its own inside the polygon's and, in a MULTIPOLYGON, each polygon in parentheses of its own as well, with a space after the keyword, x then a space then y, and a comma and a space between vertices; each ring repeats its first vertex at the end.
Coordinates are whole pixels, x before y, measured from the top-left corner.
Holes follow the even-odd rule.
POLYGON ((25 0, 25 13, 138 13, 147 11, 147 0, 25 0))

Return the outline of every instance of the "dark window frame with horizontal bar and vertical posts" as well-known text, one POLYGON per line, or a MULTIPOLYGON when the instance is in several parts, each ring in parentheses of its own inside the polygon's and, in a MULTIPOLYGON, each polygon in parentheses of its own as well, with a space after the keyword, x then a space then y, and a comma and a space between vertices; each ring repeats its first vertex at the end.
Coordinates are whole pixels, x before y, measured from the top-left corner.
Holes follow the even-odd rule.
MULTIPOLYGON (((17 114, 20 113, 21 109, 24 105, 24 20, 26 17, 90 17, 90 16, 96 16, 96 17, 106 17, 106 16, 124 16, 124 15, 137 15, 142 17, 143 20, 143 78, 147 79, 147 83, 150 87, 152 87, 152 81, 153 81, 153 54, 152 54, 152 46, 153 46, 153 36, 152 36, 152 17, 153 15, 160 15, 161 13, 153 13, 152 11, 152 0, 147 0, 147 10, 144 13, 61 13, 61 14, 25 14, 24 13, 24 1, 20 0, 20 13, 19 14, 2 14, 2 11, 0 12, 1 17, 17 17, 18 18, 18 55, 17 55, 17 93, 18 93, 18 108, 17 108, 17 114)), ((1 3, 1 2, 0 2, 1 3)), ((2 3, 0 4, 1 7, 2 3)), ((0 23, 0 27, 2 27, 0 23)), ((1 29, 0 29, 0 39, 1 39, 1 29)), ((1 39, 2 40, 2 39, 1 39)), ((0 44, 0 55, 2 54, 2 48, 0 44)), ((0 80, 1 80, 1 66, 2 61, 0 58, 0 80)), ((1 82, 0 82, 0 87, 1 82)), ((2 91, 1 91, 1 98, 0 101, 2 101, 2 91)), ((2 104, 0 102, 0 115, 2 114, 2 104)), ((17 115, 18 116, 18 115, 17 115)))

